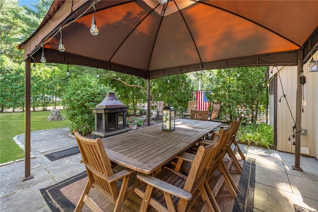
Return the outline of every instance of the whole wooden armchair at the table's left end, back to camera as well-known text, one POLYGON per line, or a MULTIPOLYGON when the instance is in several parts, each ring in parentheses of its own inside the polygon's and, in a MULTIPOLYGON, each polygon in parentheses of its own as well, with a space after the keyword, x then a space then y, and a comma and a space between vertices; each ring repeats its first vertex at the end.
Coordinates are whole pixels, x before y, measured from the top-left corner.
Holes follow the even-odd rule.
POLYGON ((82 155, 81 162, 84 163, 88 176, 75 211, 80 212, 84 204, 92 211, 102 211, 88 195, 90 188, 95 188, 112 201, 115 204, 114 212, 120 211, 125 197, 132 194, 134 188, 140 185, 135 171, 119 165, 112 167, 100 138, 94 140, 83 137, 78 130, 74 130, 74 135, 82 155), (133 174, 135 177, 130 178, 133 174), (120 191, 116 182, 120 185, 120 191))

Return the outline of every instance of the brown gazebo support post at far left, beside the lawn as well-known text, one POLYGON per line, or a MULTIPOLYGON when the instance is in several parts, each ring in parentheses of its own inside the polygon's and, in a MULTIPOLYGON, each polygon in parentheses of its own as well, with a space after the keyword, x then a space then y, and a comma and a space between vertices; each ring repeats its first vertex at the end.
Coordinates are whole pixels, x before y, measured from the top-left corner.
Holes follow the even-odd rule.
POLYGON ((22 181, 33 178, 31 175, 31 58, 25 61, 24 101, 24 177, 22 177, 22 181))

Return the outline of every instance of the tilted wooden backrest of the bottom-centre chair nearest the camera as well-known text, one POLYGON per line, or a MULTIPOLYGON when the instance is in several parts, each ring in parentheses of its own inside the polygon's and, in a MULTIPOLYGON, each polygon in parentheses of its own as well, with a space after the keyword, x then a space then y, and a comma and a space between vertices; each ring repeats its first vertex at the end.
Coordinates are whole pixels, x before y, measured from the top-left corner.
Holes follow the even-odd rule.
MULTIPOLYGON (((184 191, 193 193, 193 191, 196 191, 198 188, 203 186, 203 183, 207 177, 211 158, 214 154, 216 154, 220 138, 221 134, 217 133, 217 135, 213 139, 213 142, 210 145, 199 146, 193 163, 191 164, 189 174, 186 178, 183 187, 184 191)), ((187 204, 187 200, 180 199, 177 206, 177 211, 185 211, 187 204)))

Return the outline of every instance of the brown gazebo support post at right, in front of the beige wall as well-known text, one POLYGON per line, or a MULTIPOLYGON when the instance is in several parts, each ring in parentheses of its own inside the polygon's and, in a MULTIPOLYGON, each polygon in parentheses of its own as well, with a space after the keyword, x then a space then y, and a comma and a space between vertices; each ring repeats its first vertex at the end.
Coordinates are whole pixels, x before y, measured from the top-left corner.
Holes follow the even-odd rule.
POLYGON ((297 92, 296 92, 296 138, 295 138, 295 165, 294 170, 303 171, 300 167, 300 146, 301 146, 301 127, 302 127, 302 84, 299 81, 299 75, 303 70, 303 50, 298 50, 298 68, 297 68, 297 92))

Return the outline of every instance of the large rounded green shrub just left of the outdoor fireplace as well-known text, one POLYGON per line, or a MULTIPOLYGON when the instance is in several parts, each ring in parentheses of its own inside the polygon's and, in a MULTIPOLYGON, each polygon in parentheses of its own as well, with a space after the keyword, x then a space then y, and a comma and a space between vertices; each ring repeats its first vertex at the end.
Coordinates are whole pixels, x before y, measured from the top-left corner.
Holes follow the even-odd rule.
POLYGON ((77 76, 70 80, 63 97, 67 117, 71 120, 70 131, 78 129, 80 134, 90 134, 95 128, 92 108, 98 105, 110 89, 91 76, 77 76))

